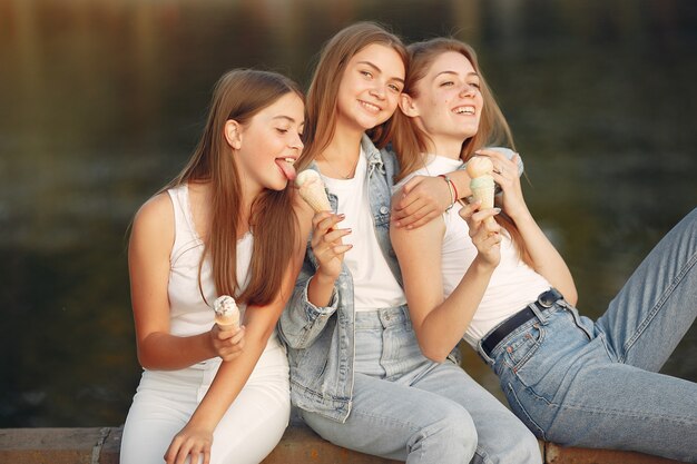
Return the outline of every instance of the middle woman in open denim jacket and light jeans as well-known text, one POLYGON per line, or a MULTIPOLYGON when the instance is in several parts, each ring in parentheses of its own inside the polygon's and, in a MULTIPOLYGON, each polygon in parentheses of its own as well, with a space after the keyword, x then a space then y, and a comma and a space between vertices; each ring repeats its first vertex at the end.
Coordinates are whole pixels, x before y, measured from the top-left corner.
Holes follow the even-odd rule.
MULTIPOLYGON (((281 316, 292 401, 321 436, 363 453, 408 463, 540 463, 519 421, 507 414, 518 424, 509 427, 505 408, 470 396, 454 353, 434 363, 414 337, 389 239, 395 160, 366 135, 389 139, 406 63, 399 38, 357 23, 334 36, 315 70, 300 165, 322 174, 336 214, 315 215, 281 316), (470 411, 479 408, 503 427, 497 440, 478 441, 470 411)), ((420 182, 448 188, 440 178, 420 182)))

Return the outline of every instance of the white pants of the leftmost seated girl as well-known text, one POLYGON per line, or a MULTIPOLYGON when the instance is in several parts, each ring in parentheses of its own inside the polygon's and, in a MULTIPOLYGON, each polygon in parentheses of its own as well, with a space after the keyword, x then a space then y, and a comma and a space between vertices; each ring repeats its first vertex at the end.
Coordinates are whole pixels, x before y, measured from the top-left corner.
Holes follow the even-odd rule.
MULTIPOLYGON (((128 412, 121 464, 163 464, 175 434, 208 391, 220 358, 181 371, 145 371, 128 412)), ((288 425, 288 362, 273 336, 246 385, 213 434, 210 464, 258 463, 288 425)), ((189 463, 189 460, 186 461, 189 463)))

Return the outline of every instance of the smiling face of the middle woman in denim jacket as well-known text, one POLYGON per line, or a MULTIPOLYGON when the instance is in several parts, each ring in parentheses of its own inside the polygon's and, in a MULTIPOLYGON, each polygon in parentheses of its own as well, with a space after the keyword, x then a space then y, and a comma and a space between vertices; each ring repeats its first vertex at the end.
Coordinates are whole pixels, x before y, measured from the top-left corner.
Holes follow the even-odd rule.
POLYGON ((342 76, 337 127, 361 132, 390 119, 404 88, 404 62, 392 48, 372 43, 354 55, 342 76))

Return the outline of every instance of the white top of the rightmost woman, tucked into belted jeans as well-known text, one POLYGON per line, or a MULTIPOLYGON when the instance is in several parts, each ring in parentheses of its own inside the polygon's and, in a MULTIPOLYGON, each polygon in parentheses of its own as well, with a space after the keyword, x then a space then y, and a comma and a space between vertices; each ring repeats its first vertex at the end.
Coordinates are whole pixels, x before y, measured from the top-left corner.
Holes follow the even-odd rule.
MULTIPOLYGON (((461 166, 461 160, 429 155, 426 166, 406 176, 399 185, 394 186, 394 189, 399 189, 414 176, 438 176, 452 172, 461 166)), ((478 254, 477 247, 470 238, 468 224, 460 217, 460 209, 462 206, 457 203, 443 214, 445 221, 441 254, 443 298, 448 298, 460 284, 462 276, 478 254)), ((534 302, 542 292, 549 290, 550 287, 551 285, 544 277, 518 257, 513 243, 503 230, 501 261, 493 272, 482 302, 464 333, 464 340, 470 346, 477 347, 477 343, 489 330, 534 302)))

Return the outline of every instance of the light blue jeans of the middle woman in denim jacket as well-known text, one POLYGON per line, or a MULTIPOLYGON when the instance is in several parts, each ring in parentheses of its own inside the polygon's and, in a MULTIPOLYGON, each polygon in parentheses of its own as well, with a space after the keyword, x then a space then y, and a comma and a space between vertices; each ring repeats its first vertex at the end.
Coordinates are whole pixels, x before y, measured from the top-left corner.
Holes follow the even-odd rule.
POLYGON ((303 419, 330 442, 408 463, 541 463, 534 436, 450 361, 421 354, 405 307, 356 313, 351 413, 303 419))

